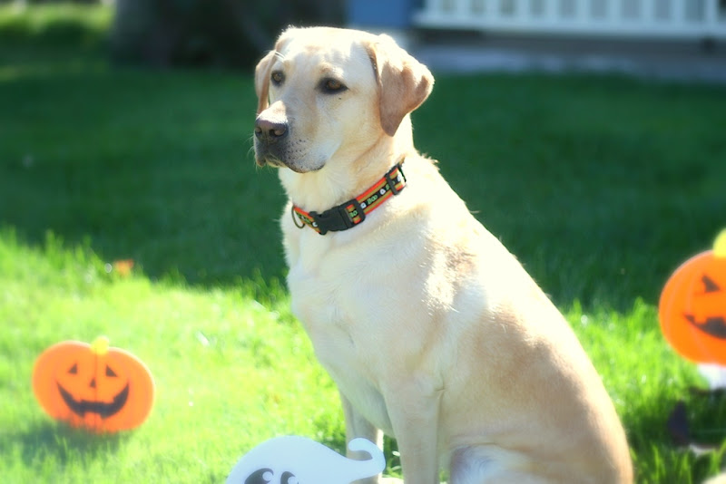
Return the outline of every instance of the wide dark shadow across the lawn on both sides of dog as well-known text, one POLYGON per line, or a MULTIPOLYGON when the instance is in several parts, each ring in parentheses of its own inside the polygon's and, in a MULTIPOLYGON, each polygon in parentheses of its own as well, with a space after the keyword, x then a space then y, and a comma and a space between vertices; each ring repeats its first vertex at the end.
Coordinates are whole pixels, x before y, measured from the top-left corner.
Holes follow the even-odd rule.
MULTIPOLYGON (((31 244, 47 230, 70 245, 90 239, 104 260, 131 258, 155 279, 283 279, 285 197, 250 154, 250 73, 96 61, 3 82, 0 224, 31 244)), ((656 304, 670 271, 726 222, 722 93, 442 77, 414 113, 417 146, 556 304, 627 310, 636 297, 656 304), (454 137, 450 126, 461 127, 454 137)))

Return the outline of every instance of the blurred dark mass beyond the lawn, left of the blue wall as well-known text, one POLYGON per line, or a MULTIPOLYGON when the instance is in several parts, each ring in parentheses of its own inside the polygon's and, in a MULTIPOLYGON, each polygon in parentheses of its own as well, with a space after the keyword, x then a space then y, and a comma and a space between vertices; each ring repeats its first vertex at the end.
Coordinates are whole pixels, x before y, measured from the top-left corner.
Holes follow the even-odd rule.
POLYGON ((341 24, 343 0, 117 0, 116 60, 250 67, 289 24, 341 24))

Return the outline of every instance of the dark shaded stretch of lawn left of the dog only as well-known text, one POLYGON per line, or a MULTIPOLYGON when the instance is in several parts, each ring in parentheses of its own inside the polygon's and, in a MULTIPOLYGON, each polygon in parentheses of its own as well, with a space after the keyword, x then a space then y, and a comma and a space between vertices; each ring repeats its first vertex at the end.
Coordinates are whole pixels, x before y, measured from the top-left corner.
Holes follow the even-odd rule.
POLYGON ((284 276, 282 189, 250 156, 250 76, 44 55, 15 63, 0 90, 16 116, 0 113, 0 226, 32 246, 50 231, 106 262, 133 259, 152 279, 284 276))

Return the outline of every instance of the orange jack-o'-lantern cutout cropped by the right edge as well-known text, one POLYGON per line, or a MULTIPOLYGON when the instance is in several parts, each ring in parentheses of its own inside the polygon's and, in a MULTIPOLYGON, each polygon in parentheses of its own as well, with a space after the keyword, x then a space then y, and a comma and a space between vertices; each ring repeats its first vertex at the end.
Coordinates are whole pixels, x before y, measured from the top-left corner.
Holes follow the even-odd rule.
POLYGON ((726 230, 713 250, 690 258, 668 279, 658 316, 663 336, 684 358, 726 365, 726 230))

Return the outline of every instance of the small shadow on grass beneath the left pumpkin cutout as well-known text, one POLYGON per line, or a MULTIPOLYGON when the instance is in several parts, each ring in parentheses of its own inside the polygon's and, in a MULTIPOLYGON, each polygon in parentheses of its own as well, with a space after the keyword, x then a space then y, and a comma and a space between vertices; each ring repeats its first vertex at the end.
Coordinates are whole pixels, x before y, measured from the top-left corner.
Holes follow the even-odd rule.
POLYGON ((64 423, 43 421, 24 431, 6 434, 0 441, 0 454, 10 455, 11 448, 19 448, 27 467, 44 461, 82 462, 112 454, 127 438, 123 432, 94 434, 64 423))

